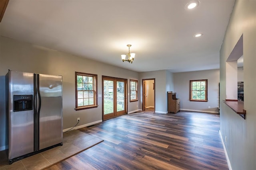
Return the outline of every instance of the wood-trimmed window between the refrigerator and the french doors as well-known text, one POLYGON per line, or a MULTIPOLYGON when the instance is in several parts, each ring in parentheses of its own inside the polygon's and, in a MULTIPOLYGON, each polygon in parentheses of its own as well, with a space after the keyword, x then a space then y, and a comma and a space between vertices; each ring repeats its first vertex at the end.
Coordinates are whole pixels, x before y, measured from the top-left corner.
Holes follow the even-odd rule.
POLYGON ((98 107, 97 75, 76 72, 76 110, 98 107))

